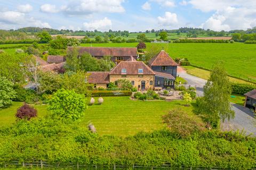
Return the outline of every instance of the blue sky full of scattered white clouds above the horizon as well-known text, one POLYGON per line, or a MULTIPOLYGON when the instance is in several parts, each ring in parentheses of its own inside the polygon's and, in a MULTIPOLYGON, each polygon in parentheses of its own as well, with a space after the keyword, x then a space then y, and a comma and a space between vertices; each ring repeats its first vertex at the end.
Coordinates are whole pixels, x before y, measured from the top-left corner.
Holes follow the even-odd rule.
POLYGON ((0 29, 146 31, 256 27, 256 0, 0 0, 0 29))

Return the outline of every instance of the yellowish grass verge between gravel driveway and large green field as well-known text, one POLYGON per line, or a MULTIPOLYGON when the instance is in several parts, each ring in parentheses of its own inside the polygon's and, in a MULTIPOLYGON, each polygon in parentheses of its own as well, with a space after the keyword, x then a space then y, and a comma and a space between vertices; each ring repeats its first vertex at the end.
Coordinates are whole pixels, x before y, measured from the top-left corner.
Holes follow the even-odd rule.
MULTIPOLYGON (((186 66, 182 66, 182 67, 186 69, 188 74, 195 75, 196 77, 199 77, 199 78, 202 78, 205 80, 209 79, 209 77, 210 77, 210 71, 208 71, 208 70, 199 69, 199 68, 193 67, 191 65, 186 65, 186 66)), ((235 83, 252 84, 251 82, 244 81, 241 79, 236 79, 233 77, 229 77, 229 80, 231 82, 235 82, 235 83)))

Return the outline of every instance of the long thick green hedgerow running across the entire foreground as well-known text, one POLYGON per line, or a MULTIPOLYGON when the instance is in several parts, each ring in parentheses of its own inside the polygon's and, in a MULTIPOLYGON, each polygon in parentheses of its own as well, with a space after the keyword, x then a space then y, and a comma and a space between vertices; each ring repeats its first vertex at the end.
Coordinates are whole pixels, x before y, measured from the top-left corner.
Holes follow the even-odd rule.
POLYGON ((79 128, 77 123, 63 123, 48 116, 20 120, 10 128, 0 129, 0 164, 11 160, 251 169, 256 165, 256 140, 218 131, 198 132, 188 138, 178 138, 169 130, 126 138, 99 136, 79 128))

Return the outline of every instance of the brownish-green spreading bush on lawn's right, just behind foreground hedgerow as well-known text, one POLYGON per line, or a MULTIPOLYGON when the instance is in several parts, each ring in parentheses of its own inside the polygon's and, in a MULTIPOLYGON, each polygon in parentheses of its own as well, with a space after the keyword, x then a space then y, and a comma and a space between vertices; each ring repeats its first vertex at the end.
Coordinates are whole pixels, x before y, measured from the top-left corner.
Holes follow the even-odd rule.
POLYGON ((181 138, 189 137, 196 132, 205 130, 205 124, 196 115, 190 116, 181 109, 173 109, 168 114, 162 116, 163 123, 173 133, 177 133, 181 138))

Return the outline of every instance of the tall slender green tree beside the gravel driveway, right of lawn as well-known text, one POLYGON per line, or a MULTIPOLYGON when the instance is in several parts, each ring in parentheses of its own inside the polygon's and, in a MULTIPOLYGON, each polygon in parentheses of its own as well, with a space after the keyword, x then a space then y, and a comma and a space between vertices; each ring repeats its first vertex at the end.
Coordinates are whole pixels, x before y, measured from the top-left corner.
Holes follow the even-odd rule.
POLYGON ((231 94, 228 74, 222 62, 214 65, 209 80, 204 86, 204 97, 197 100, 197 112, 209 126, 219 128, 220 120, 234 118, 229 98, 231 94))

